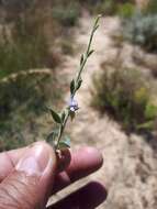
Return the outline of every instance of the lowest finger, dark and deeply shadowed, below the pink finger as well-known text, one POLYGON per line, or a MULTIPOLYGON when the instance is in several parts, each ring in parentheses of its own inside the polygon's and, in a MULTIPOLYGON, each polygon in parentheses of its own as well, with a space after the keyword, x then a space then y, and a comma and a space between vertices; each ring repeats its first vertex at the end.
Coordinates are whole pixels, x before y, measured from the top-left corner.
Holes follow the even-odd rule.
POLYGON ((90 183, 54 206, 48 207, 48 209, 94 209, 102 204, 105 198, 105 188, 99 183, 90 183))

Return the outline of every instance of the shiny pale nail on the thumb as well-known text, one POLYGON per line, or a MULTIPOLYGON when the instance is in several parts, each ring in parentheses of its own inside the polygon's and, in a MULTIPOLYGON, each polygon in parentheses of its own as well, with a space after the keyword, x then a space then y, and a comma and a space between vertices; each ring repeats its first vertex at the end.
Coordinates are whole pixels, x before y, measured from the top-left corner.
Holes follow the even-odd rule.
POLYGON ((26 151, 24 156, 18 163, 15 169, 24 172, 30 176, 42 176, 52 160, 46 143, 36 143, 26 151))

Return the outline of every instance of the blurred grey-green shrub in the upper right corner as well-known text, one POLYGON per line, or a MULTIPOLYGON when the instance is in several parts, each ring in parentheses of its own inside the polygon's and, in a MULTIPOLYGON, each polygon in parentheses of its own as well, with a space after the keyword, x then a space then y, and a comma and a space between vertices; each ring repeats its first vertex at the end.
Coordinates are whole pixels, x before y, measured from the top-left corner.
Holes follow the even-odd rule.
POLYGON ((134 15, 124 22, 123 35, 145 51, 157 53, 157 15, 134 15))

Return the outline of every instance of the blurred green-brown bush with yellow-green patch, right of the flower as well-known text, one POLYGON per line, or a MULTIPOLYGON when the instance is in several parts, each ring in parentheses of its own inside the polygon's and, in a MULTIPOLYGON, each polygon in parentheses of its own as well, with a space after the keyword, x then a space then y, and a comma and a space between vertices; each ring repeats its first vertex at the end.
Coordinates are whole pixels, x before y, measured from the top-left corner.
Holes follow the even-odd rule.
POLYGON ((104 64, 93 85, 92 106, 120 121, 124 130, 148 131, 154 128, 157 106, 152 103, 150 88, 142 73, 131 68, 115 70, 104 64))

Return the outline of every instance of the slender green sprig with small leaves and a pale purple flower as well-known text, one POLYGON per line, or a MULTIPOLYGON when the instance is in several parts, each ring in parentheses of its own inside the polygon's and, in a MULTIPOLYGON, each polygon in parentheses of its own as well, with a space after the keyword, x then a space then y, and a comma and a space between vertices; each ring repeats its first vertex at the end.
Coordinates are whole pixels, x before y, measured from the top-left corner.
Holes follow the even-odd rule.
POLYGON ((66 147, 70 147, 70 139, 64 134, 64 131, 65 131, 68 119, 70 118, 71 120, 74 120, 74 118, 76 116, 76 111, 79 109, 78 102, 75 99, 75 96, 76 96, 76 92, 81 87, 81 84, 82 84, 81 74, 85 69, 87 61, 91 56, 91 54, 94 52, 93 50, 91 50, 91 43, 93 40, 93 35, 99 28, 100 18, 101 18, 101 15, 98 15, 94 21, 87 51, 80 57, 79 70, 77 72, 76 77, 70 82, 69 103, 66 106, 66 108, 60 113, 57 113, 52 108, 47 108, 52 114, 54 122, 56 123, 57 129, 53 130, 53 132, 49 133, 46 141, 53 143, 53 146, 55 147, 56 151, 66 148, 66 147))

